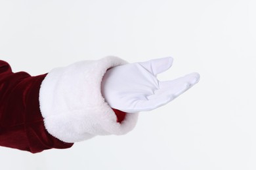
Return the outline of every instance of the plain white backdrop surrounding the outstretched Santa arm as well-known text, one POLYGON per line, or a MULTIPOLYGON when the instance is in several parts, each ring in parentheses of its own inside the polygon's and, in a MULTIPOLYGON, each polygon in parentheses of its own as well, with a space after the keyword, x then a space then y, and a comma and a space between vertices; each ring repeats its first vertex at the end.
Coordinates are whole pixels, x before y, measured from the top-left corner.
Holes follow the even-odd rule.
POLYGON ((173 56, 160 80, 201 75, 127 135, 39 154, 1 147, 1 169, 256 169, 255 9, 254 0, 0 0, 0 59, 14 72, 114 55, 173 56))

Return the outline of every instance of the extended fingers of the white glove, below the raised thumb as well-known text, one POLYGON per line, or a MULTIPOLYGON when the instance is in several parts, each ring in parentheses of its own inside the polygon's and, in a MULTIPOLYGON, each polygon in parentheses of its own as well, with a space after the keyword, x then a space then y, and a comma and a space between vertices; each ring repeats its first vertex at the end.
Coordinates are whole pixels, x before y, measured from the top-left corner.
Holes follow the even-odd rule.
POLYGON ((196 84, 199 80, 200 75, 198 73, 191 73, 175 80, 159 82, 160 89, 158 90, 158 93, 167 93, 167 95, 177 97, 194 86, 194 84, 196 84))

